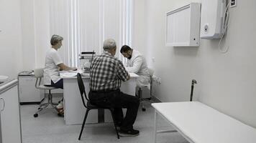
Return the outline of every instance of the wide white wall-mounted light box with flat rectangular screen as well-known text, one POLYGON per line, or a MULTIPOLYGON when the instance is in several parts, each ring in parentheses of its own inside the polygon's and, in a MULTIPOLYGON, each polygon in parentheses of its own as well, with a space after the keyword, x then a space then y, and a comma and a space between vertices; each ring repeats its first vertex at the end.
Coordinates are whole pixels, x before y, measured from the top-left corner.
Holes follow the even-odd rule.
POLYGON ((191 3, 166 14, 166 46, 199 46, 200 3, 191 3))

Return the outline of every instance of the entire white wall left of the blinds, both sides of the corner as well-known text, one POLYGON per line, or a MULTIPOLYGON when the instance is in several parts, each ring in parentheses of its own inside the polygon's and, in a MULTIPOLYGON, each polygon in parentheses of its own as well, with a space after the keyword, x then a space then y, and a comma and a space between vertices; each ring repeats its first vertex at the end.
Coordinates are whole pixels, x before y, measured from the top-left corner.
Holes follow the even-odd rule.
POLYGON ((0 75, 42 67, 50 47, 48 1, 0 1, 0 75))

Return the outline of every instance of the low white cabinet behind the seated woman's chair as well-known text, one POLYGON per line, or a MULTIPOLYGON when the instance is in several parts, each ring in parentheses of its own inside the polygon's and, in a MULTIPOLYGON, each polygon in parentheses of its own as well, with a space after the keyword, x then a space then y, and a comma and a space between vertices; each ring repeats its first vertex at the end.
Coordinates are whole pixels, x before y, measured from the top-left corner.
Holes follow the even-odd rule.
POLYGON ((40 104, 45 93, 43 90, 35 88, 36 80, 33 76, 19 76, 20 104, 40 104))

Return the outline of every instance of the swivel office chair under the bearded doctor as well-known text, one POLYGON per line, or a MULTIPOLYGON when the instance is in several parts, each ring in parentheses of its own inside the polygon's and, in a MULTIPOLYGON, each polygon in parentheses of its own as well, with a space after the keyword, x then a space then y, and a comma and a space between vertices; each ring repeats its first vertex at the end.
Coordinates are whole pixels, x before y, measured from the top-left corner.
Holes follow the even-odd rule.
POLYGON ((138 87, 138 96, 140 98, 140 104, 142 104, 142 111, 145 112, 146 111, 146 108, 144 106, 144 103, 145 102, 150 102, 150 100, 152 99, 152 77, 154 75, 154 70, 153 69, 150 69, 148 68, 148 71, 150 72, 150 97, 149 98, 143 98, 142 97, 142 92, 146 92, 148 89, 147 89, 147 86, 146 87, 138 87), (146 90, 143 90, 143 89, 146 89, 146 90))

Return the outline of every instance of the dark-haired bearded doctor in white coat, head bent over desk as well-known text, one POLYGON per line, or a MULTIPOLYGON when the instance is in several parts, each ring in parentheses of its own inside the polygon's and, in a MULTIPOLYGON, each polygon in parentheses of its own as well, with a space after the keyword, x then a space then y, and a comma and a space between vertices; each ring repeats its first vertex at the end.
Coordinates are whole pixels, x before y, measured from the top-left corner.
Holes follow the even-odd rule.
POLYGON ((120 52, 128 59, 125 64, 125 69, 127 69, 128 72, 133 72, 140 76, 137 78, 137 86, 146 87, 149 85, 150 72, 147 69, 147 62, 144 56, 142 56, 139 51, 131 49, 127 45, 122 46, 120 52))

